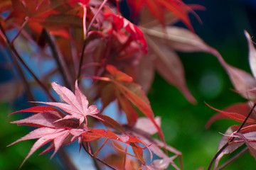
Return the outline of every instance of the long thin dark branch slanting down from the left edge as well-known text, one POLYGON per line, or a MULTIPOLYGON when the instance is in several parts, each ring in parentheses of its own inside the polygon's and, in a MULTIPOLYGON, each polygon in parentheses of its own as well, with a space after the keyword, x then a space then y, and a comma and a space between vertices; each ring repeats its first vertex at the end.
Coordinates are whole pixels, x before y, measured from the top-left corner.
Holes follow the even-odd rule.
POLYGON ((48 94, 50 99, 55 101, 55 98, 53 98, 53 96, 50 94, 50 91, 48 91, 47 87, 40 81, 40 79, 38 79, 38 77, 36 77, 36 74, 34 74, 32 72, 32 70, 28 67, 26 62, 23 61, 21 55, 18 54, 14 45, 11 44, 10 40, 8 39, 8 37, 6 36, 6 34, 4 32, 4 28, 1 26, 1 23, 0 23, 0 35, 1 35, 2 38, 4 38, 4 41, 6 42, 6 45, 11 49, 12 52, 14 52, 14 55, 16 55, 16 57, 18 57, 19 62, 21 62, 21 64, 23 64, 23 66, 28 70, 28 72, 32 75, 32 77, 38 82, 38 84, 41 86, 41 88, 44 91, 46 91, 46 94, 48 94))

